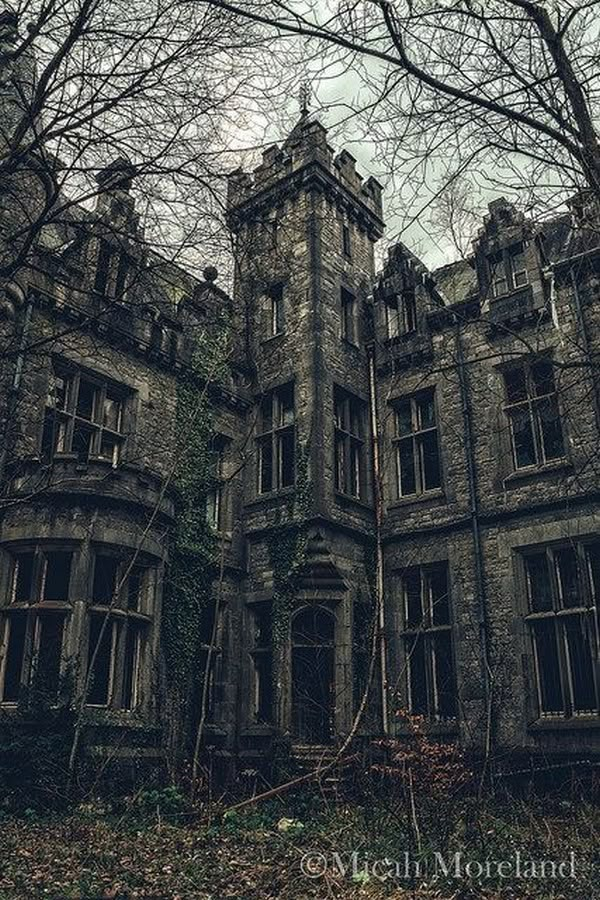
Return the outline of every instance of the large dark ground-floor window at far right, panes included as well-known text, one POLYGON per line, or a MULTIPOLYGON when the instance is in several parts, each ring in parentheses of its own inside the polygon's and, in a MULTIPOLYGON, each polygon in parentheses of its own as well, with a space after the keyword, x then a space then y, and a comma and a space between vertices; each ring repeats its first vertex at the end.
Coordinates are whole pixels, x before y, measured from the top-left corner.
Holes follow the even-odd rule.
POLYGON ((523 555, 539 714, 598 715, 600 543, 523 555))

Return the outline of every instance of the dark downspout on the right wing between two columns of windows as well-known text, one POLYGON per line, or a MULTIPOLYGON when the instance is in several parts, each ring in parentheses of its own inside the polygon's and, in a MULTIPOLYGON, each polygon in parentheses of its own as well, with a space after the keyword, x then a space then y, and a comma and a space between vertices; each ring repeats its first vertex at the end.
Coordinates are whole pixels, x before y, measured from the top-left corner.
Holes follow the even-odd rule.
POLYGON ((481 524, 479 521, 479 496, 477 491, 477 473, 473 454, 473 425, 469 392, 465 373, 465 360, 463 345, 460 338, 460 323, 456 321, 456 356, 458 362, 458 377, 460 385, 460 398, 462 407, 462 419, 465 435, 465 454, 467 461, 467 484, 469 488, 469 505, 471 517, 471 535, 473 538, 473 551, 475 556, 475 590, 477 593, 477 624, 479 628, 479 646, 483 663, 483 689, 486 708, 486 758, 491 751, 492 735, 492 696, 490 679, 490 651, 489 651, 489 624, 485 599, 485 570, 483 562, 483 546, 481 540, 481 524))

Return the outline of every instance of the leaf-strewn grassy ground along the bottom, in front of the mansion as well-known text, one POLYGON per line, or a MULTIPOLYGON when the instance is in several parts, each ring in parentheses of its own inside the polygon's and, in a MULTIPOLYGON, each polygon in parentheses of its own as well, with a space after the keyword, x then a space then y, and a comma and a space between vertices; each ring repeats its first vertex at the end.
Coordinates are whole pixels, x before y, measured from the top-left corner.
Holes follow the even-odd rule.
POLYGON ((182 805, 172 792, 149 791, 127 803, 90 800, 69 814, 3 815, 0 900, 590 900, 597 886, 600 810, 571 796, 496 797, 475 814, 461 802, 450 823, 432 806, 420 851, 410 809, 387 794, 336 805, 305 790, 225 814, 216 804, 193 814, 182 805), (521 865, 572 852, 576 878, 477 877, 487 860, 514 869, 517 851, 521 865), (461 854, 459 878, 426 871, 436 852, 445 864, 461 854), (422 874, 413 864, 404 877, 405 858, 422 874), (303 859, 325 860, 327 872, 308 877, 303 859), (386 859, 398 861, 398 878, 382 877, 389 864, 373 868, 386 859))

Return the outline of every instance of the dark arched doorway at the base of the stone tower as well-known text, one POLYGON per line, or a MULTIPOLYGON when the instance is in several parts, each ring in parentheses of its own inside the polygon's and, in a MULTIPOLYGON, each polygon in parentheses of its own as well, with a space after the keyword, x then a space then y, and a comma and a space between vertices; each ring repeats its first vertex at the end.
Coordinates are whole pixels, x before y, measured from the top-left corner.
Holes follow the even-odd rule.
POLYGON ((305 744, 331 740, 334 716, 333 614, 322 606, 292 620, 292 736, 305 744))

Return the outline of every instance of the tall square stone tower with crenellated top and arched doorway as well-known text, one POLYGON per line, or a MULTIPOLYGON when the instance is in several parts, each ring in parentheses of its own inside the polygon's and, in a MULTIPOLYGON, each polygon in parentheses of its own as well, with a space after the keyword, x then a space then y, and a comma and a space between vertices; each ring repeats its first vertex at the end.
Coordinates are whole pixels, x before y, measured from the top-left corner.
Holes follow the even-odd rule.
POLYGON ((381 188, 349 153, 334 156, 304 112, 252 175, 234 174, 229 211, 255 394, 245 471, 255 663, 241 716, 252 734, 322 743, 351 725, 371 599, 366 345, 381 188))

